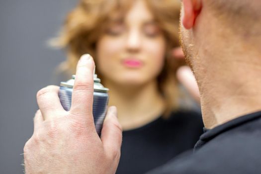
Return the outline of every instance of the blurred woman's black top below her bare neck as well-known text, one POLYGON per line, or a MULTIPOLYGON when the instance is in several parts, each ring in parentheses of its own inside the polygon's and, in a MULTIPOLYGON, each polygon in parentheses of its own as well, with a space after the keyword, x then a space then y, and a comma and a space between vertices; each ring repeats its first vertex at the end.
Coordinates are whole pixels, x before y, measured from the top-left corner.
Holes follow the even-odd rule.
POLYGON ((201 115, 172 113, 134 130, 123 131, 121 158, 116 174, 144 174, 175 156, 193 149, 203 133, 201 115))

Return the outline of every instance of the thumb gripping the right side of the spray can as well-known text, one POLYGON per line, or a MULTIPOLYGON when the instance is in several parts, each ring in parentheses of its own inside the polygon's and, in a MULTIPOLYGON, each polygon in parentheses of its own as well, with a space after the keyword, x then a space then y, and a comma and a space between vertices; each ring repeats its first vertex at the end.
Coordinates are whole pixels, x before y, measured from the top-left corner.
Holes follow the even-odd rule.
POLYGON ((105 149, 111 152, 115 157, 120 155, 120 147, 122 141, 122 128, 117 119, 117 109, 111 106, 103 122, 101 130, 101 141, 105 149))

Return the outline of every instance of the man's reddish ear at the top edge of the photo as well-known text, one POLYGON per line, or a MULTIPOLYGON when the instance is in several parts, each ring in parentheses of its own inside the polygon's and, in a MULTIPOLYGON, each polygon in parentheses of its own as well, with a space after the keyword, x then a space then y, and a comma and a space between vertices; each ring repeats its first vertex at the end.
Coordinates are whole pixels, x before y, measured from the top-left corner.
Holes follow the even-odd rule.
POLYGON ((191 29, 202 8, 202 0, 182 0, 184 15, 182 24, 186 29, 191 29))

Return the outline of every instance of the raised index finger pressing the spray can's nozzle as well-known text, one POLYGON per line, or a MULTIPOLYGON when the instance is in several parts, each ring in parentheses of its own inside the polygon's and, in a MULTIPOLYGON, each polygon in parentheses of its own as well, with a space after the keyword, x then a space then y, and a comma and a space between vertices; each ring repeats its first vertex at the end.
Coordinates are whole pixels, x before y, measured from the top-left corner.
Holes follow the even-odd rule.
POLYGON ((70 110, 73 115, 88 116, 88 120, 93 120, 93 69, 92 57, 88 54, 83 55, 77 65, 70 110))

